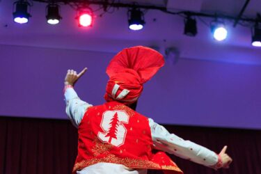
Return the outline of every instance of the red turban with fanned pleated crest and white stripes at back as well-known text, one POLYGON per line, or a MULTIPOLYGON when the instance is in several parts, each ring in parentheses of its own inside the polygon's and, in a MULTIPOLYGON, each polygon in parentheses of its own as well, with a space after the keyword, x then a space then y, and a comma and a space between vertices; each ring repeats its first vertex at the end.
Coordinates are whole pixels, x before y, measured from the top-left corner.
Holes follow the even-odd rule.
POLYGON ((106 86, 105 100, 118 100, 124 104, 136 102, 143 84, 163 65, 163 56, 154 49, 142 46, 123 49, 113 57, 106 69, 110 79, 106 86))

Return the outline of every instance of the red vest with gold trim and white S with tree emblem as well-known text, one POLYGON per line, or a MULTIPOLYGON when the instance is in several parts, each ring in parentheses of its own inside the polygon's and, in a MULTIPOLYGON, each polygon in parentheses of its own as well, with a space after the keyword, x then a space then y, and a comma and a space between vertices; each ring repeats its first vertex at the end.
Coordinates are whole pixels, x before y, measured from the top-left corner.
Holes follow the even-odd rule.
POLYGON ((152 154, 148 118, 124 104, 108 102, 88 108, 78 134, 73 173, 100 162, 182 173, 164 152, 152 154))

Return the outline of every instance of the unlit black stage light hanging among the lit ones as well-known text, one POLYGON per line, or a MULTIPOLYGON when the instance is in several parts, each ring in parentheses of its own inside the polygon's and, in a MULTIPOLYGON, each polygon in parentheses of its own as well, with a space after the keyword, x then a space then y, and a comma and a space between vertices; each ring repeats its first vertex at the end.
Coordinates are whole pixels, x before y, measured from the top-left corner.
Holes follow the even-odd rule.
POLYGON ((196 19, 192 19, 191 17, 186 17, 184 19, 184 35, 189 35, 189 36, 196 36, 198 33, 197 30, 197 22, 196 19))

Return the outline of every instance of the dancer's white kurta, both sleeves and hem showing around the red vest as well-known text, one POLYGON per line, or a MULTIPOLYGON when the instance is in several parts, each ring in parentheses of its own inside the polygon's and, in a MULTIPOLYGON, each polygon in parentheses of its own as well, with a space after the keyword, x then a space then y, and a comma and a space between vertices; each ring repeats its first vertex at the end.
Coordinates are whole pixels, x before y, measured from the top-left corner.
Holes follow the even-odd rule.
MULTIPOLYGON (((65 102, 66 113, 75 127, 78 127, 88 107, 93 106, 80 100, 73 88, 65 88, 65 102)), ((148 119, 155 149, 183 159, 189 159, 204 166, 214 167, 216 165, 218 156, 215 152, 191 141, 183 140, 175 134, 170 134, 165 127, 157 124, 151 118, 148 119)), ((99 163, 88 166, 77 173, 145 174, 147 170, 132 170, 120 164, 99 163)))

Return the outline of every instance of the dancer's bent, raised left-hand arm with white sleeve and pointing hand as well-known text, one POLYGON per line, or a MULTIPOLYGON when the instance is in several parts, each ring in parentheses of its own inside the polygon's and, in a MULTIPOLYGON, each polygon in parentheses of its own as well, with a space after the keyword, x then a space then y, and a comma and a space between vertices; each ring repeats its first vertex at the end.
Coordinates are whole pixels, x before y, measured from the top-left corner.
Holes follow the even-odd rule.
POLYGON ((75 127, 78 127, 80 124, 88 107, 93 106, 80 100, 73 88, 74 84, 76 84, 77 80, 86 72, 86 70, 87 68, 84 68, 84 70, 79 74, 74 70, 68 70, 64 81, 65 86, 63 91, 66 102, 66 113, 75 127))

